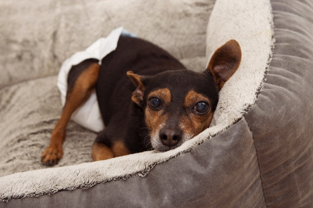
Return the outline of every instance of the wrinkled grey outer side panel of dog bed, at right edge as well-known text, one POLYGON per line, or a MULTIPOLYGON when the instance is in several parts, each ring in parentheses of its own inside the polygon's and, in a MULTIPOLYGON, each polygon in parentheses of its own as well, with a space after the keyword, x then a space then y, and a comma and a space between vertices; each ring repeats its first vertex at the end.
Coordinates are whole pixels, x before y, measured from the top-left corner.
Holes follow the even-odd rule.
POLYGON ((268 207, 313 205, 313 3, 272 0, 275 50, 245 116, 268 207))

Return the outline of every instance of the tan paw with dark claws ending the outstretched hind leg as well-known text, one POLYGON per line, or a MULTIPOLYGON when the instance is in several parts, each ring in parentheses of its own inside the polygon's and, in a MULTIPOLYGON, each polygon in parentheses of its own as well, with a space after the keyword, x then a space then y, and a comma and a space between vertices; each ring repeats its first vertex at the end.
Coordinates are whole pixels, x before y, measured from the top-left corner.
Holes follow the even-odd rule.
POLYGON ((41 155, 41 162, 46 166, 54 166, 58 164, 63 155, 63 148, 58 146, 47 147, 41 155))

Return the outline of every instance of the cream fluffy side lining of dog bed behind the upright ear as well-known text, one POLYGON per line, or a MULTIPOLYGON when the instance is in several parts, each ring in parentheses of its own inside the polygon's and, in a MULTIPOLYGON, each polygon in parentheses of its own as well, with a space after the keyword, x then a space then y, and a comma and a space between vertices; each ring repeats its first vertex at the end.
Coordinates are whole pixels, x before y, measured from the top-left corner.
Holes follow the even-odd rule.
POLYGON ((263 87, 275 42, 270 2, 216 1, 208 23, 207 57, 230 39, 240 44, 241 63, 219 92, 211 126, 237 121, 252 107, 263 87))

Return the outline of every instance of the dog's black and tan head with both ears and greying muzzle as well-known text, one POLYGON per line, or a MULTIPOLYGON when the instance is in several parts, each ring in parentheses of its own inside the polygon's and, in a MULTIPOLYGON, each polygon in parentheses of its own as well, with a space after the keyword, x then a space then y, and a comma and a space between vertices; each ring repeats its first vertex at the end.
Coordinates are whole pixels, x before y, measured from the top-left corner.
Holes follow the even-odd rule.
POLYGON ((143 108, 154 149, 174 149, 209 127, 218 92, 240 60, 240 46, 230 40, 214 52, 203 73, 174 70, 140 76, 127 72, 136 86, 131 99, 143 108))

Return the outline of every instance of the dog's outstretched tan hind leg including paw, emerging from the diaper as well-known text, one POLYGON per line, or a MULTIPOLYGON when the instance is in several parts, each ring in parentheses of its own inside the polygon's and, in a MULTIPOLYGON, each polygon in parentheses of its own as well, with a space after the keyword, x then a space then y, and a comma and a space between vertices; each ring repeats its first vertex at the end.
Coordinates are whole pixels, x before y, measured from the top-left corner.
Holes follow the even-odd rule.
POLYGON ((87 66, 85 62, 81 66, 76 65, 74 67, 82 66, 85 68, 79 74, 73 83, 73 86, 69 86, 62 115, 52 131, 50 145, 41 155, 42 163, 44 165, 54 166, 61 159, 63 155, 62 144, 65 140, 67 123, 69 122, 72 113, 90 97, 95 88, 95 83, 97 82, 99 75, 99 64, 90 61, 87 66))

